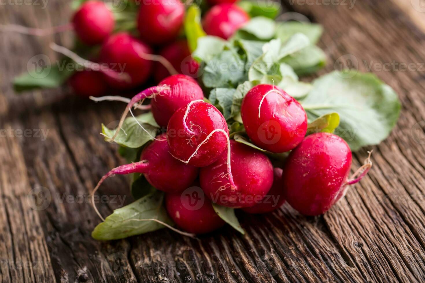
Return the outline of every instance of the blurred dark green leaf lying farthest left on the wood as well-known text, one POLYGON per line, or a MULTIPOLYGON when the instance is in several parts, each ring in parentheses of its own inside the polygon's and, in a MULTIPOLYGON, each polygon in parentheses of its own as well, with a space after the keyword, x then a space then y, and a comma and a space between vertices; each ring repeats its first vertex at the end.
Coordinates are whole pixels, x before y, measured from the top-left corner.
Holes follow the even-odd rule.
POLYGON ((14 90, 21 92, 60 87, 73 73, 65 67, 65 64, 66 62, 64 64, 37 66, 35 70, 17 76, 13 81, 14 90))

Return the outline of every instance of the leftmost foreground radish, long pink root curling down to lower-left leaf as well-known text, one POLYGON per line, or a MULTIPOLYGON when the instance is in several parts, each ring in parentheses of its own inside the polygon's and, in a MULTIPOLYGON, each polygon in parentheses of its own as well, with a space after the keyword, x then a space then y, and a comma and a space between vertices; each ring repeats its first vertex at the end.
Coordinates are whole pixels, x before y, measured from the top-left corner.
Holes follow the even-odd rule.
MULTIPOLYGON (((198 168, 184 164, 171 156, 165 134, 161 134, 142 151, 140 160, 139 162, 118 166, 103 176, 93 190, 92 201, 94 193, 102 182, 115 174, 144 174, 150 185, 160 191, 169 193, 184 191, 198 177, 198 168)), ((95 206, 94 208, 100 218, 102 218, 95 206)))

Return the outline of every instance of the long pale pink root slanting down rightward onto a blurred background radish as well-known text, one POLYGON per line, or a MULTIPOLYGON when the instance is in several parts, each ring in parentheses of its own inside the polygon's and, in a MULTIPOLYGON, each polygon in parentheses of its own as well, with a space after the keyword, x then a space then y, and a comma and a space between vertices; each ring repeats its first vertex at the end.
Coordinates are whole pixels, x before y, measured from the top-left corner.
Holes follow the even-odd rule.
POLYGON ((131 82, 131 78, 127 73, 119 74, 116 70, 112 70, 110 68, 103 70, 104 68, 102 68, 99 63, 95 63, 95 62, 91 62, 91 61, 88 61, 86 59, 83 59, 80 56, 78 56, 76 53, 74 53, 73 51, 69 50, 66 47, 63 47, 63 46, 57 45, 54 42, 51 42, 50 48, 53 49, 54 51, 58 52, 58 53, 61 53, 65 56, 71 58, 77 64, 80 64, 80 65, 84 66, 85 68, 88 68, 88 69, 93 70, 93 71, 99 71, 99 72, 105 74, 106 76, 109 76, 109 77, 116 79, 118 81, 131 82))

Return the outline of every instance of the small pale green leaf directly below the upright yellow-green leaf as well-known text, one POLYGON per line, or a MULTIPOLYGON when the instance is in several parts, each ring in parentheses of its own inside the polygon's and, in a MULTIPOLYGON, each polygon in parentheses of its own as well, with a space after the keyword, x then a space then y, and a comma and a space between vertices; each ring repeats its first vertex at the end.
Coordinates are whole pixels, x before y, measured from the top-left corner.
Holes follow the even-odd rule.
POLYGON ((198 62, 207 62, 219 55, 226 45, 227 42, 220 37, 202 36, 198 38, 196 50, 193 51, 192 56, 198 62))

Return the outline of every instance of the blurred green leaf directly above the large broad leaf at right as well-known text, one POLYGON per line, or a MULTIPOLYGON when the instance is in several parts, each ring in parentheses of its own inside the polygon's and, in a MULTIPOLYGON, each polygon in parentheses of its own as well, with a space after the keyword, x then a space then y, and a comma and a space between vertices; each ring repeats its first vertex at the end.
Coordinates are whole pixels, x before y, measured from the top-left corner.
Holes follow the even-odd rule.
POLYGON ((282 62, 291 66, 299 76, 316 73, 326 64, 326 54, 316 45, 310 45, 289 56, 282 62))

